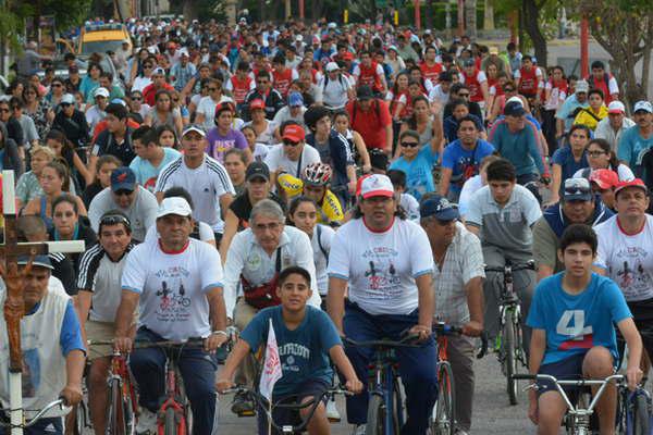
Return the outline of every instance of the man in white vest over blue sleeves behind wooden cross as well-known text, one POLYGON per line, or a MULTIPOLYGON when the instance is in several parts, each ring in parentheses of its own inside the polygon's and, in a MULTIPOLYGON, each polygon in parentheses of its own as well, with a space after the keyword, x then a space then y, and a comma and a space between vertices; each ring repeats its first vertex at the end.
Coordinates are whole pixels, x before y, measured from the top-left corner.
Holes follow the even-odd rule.
MULTIPOLYGON (((28 262, 27 257, 19 258, 16 277, 3 270, 3 288, 0 290, 0 303, 5 307, 5 312, 14 295, 23 291, 25 315, 21 320, 21 335, 15 337, 20 339, 23 351, 23 405, 26 410, 38 410, 61 397, 66 405, 74 406, 82 400, 86 353, 79 322, 71 297, 63 291, 51 291, 48 287, 52 271, 48 256, 36 256, 32 270, 26 268, 28 262)), ((5 315, 0 318, 0 406, 10 409, 8 356, 13 339, 12 336, 7 339, 5 315)), ((26 411, 26 417, 30 418, 34 413, 26 411)), ((23 433, 63 435, 61 417, 64 413, 53 409, 48 418, 23 430, 23 433)), ((0 418, 8 417, 0 412, 0 418)), ((0 427, 0 434, 8 432, 0 427)))

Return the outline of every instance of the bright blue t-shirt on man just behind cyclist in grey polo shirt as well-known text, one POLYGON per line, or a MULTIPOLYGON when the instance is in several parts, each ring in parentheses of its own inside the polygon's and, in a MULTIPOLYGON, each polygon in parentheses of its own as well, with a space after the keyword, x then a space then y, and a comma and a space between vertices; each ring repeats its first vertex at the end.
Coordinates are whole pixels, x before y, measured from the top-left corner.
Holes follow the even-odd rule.
POLYGON ((492 144, 479 139, 473 150, 463 148, 460 139, 444 148, 442 167, 452 170, 449 190, 459 194, 466 181, 479 173, 481 160, 494 152, 492 144))

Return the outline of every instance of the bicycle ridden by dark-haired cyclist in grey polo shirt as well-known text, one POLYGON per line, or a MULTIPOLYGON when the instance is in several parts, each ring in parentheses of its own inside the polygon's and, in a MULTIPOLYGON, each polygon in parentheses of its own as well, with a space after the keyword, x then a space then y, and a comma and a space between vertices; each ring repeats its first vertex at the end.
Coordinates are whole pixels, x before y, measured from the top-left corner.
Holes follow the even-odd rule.
POLYGON ((501 268, 485 266, 485 272, 496 272, 504 276, 498 299, 500 331, 494 349, 507 380, 506 390, 510 405, 517 405, 517 383, 513 376, 517 374, 517 361, 525 368, 528 366, 522 346, 521 307, 514 288, 514 272, 526 270, 534 271, 535 262, 529 260, 526 263, 510 264, 506 261, 506 264, 501 268))

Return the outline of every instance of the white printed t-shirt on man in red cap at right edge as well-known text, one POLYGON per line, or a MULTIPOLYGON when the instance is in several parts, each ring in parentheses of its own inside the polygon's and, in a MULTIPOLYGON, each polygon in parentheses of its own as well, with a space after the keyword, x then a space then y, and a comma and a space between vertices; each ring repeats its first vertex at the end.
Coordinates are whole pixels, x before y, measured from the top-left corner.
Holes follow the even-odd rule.
POLYGON ((594 226, 594 232, 599 237, 594 264, 617 283, 626 300, 653 298, 653 216, 646 214, 646 223, 638 234, 624 233, 617 216, 594 226))

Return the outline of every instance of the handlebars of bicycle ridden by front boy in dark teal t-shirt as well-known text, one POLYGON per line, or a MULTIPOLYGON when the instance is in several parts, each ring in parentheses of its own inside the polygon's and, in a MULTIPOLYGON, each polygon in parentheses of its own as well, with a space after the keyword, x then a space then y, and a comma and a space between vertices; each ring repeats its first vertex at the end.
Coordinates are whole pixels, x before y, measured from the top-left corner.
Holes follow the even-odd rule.
POLYGON ((300 433, 305 432, 306 427, 308 426, 308 423, 310 422, 310 419, 312 419, 313 414, 316 413, 318 406, 324 401, 324 398, 331 397, 334 395, 338 395, 338 394, 346 395, 346 396, 353 395, 353 393, 345 389, 343 386, 337 386, 337 387, 328 388, 319 397, 313 397, 311 400, 305 401, 303 403, 298 403, 296 400, 292 400, 293 398, 299 398, 297 396, 286 396, 281 400, 273 401, 272 403, 270 403, 268 401, 268 399, 266 399, 257 389, 248 388, 243 385, 236 386, 234 388, 229 388, 221 393, 221 395, 227 395, 227 394, 243 394, 243 395, 247 395, 248 397, 250 397, 252 399, 252 401, 255 401, 257 403, 257 407, 266 413, 270 425, 275 431, 280 432, 283 435, 300 434, 300 433), (289 410, 297 411, 297 412, 301 411, 303 409, 308 408, 308 414, 304 419, 299 418, 298 424, 281 424, 280 425, 272 418, 272 414, 273 414, 272 411, 274 409, 282 409, 282 408, 289 409, 289 410))

